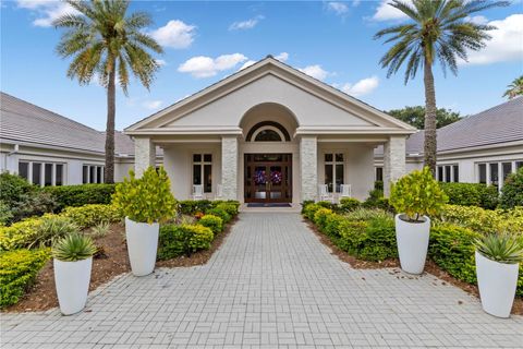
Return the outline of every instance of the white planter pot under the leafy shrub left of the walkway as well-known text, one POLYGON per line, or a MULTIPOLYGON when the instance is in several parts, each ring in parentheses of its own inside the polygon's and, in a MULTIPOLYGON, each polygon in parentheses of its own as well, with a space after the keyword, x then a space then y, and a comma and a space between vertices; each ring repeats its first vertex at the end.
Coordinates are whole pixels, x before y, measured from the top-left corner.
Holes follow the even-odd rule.
POLYGON ((129 261, 134 275, 148 275, 155 269, 159 230, 157 222, 136 222, 125 217, 129 261))

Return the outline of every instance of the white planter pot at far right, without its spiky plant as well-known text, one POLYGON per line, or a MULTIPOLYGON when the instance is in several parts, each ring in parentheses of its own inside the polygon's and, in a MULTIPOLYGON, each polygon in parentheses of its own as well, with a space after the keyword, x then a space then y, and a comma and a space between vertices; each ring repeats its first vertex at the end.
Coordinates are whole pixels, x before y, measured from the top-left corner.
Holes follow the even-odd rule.
POLYGON ((510 316, 519 267, 519 264, 491 261, 476 251, 477 287, 484 311, 498 317, 510 316))

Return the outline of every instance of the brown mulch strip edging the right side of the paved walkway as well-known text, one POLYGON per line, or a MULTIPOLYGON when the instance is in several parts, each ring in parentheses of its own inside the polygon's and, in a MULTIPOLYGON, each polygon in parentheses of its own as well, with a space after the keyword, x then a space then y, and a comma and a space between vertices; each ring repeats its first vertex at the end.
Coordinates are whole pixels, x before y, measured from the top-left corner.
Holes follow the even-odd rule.
MULTIPOLYGON (((320 232, 312 221, 307 219, 304 219, 304 221, 307 224, 309 229, 314 231, 314 233, 318 237, 319 241, 330 249, 331 254, 336 255, 340 261, 343 261, 350 264, 351 267, 353 267, 354 269, 379 269, 379 268, 399 268, 400 267, 400 261, 397 258, 387 260, 382 262, 369 262, 369 261, 362 261, 352 255, 349 255, 345 251, 341 250, 336 244, 333 244, 332 241, 329 239, 329 237, 320 232)), ((391 274, 400 274, 400 273, 399 270, 394 270, 391 274)), ((440 279, 436 281, 440 281, 442 286, 450 284, 452 286, 461 288, 463 291, 470 294, 473 294, 479 298, 479 290, 476 285, 467 284, 457 279, 446 270, 441 269, 436 263, 434 263, 430 260, 427 260, 427 262, 425 263, 424 274, 430 274, 436 276, 437 278, 440 279)), ((403 277, 403 276, 397 275, 397 278, 400 278, 400 277, 403 277)), ((523 315, 523 298, 516 297, 514 299, 511 313, 514 315, 523 315)))

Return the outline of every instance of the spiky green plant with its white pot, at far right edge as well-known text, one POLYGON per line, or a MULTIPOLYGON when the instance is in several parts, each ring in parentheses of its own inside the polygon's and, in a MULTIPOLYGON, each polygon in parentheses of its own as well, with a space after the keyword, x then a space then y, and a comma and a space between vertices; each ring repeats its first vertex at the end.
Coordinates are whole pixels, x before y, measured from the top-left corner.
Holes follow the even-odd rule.
POLYGON ((508 234, 489 234, 476 240, 476 276, 483 310, 509 317, 523 261, 523 246, 508 234))

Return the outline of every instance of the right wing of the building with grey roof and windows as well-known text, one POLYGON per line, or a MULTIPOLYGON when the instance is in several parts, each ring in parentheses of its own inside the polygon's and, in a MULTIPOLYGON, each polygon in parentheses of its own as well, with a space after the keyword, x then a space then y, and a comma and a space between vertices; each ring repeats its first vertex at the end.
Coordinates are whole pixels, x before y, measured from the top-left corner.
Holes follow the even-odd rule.
MULTIPOLYGON (((523 97, 514 98, 437 131, 436 177, 442 182, 496 185, 523 167, 523 97)), ((423 167, 424 132, 406 141, 406 169, 423 167)), ((376 178, 381 179, 382 151, 376 151, 376 178)))

